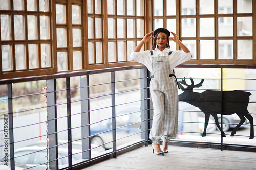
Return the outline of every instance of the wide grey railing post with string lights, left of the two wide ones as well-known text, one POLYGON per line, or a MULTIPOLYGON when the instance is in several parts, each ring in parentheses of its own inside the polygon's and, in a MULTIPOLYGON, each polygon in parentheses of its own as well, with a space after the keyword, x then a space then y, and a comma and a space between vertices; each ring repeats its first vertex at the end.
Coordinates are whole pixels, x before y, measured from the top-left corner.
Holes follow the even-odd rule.
POLYGON ((46 80, 50 169, 58 169, 56 79, 46 80))

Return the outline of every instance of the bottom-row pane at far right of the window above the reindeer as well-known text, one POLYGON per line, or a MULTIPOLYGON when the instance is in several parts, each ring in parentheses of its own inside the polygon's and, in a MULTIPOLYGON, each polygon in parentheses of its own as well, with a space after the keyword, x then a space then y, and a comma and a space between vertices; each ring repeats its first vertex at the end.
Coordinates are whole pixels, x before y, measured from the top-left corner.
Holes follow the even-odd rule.
POLYGON ((253 42, 251 39, 248 40, 238 40, 238 59, 253 59, 252 57, 252 47, 253 42))

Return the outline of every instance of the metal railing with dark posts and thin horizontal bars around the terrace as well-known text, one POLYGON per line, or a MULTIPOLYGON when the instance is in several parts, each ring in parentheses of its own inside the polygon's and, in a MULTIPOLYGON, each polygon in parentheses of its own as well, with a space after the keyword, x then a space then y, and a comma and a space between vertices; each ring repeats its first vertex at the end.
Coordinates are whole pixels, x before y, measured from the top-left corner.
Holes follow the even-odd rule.
MULTIPOLYGON (((176 69, 180 83, 182 79, 179 77, 179 72, 183 72, 180 74, 183 76, 186 69, 190 68, 176 69)), ((193 89, 191 94, 195 93, 195 90, 200 95, 207 90, 220 92, 221 108, 217 114, 221 115, 220 126, 223 129, 225 125, 237 125, 223 122, 223 112, 225 112, 223 106, 226 102, 223 100, 223 91, 237 90, 226 89, 223 81, 241 80, 245 82, 256 79, 223 78, 225 75, 223 68, 215 69, 219 71, 218 76, 207 75, 202 78, 193 78, 197 83, 204 79, 206 85, 203 84, 202 87, 193 89)), ((186 76, 191 76, 191 74, 186 74, 186 76)), ((79 169, 108 158, 116 158, 118 154, 148 145, 151 142, 148 139, 148 133, 153 116, 153 106, 148 88, 149 77, 144 66, 129 66, 0 80, 2 89, 7 91, 7 98, 0 99, 0 107, 3 108, 0 113, 0 121, 3 125, 0 129, 0 134, 3 136, 0 148, 1 155, 4 155, 0 163, 10 166, 11 169, 19 166, 24 169, 79 169), (137 72, 132 78, 125 79, 122 73, 118 74, 120 71, 133 70, 137 70, 137 72), (100 77, 99 74, 106 75, 100 77), (102 77, 106 77, 105 81, 100 81, 102 77), (122 78, 120 79, 120 77, 122 78), (90 78, 94 78, 96 83, 91 82, 90 78), (23 89, 19 86, 28 86, 27 83, 36 84, 37 90, 33 90, 32 85, 29 84, 31 91, 19 95, 19 90, 23 89), (119 84, 122 85, 117 87, 119 84), (93 92, 95 89, 100 89, 100 92, 93 92), (26 103, 27 99, 32 104, 26 103), (38 158, 45 161, 40 161, 38 158), (25 160, 27 160, 26 163, 24 163, 25 160)), ((191 79, 185 78, 184 80, 188 82, 191 79)), ((183 85, 185 82, 183 81, 183 85)), ((187 83, 188 86, 190 84, 187 83)), ((252 93, 253 98, 249 105, 254 108, 253 94, 256 94, 256 90, 255 88, 250 89, 251 87, 240 91, 252 93)), ((179 90, 180 96, 184 92, 187 91, 179 90)), ((183 103, 188 104, 190 101, 191 99, 183 100, 183 103)), ((201 100, 201 102, 203 101, 201 100)), ((227 142, 223 140, 224 133, 218 133, 216 130, 206 132, 205 135, 207 137, 214 136, 218 138, 217 141, 207 137, 202 138, 203 128, 191 129, 190 127, 204 125, 204 120, 195 119, 195 117, 200 117, 198 116, 200 113, 206 115, 207 111, 202 108, 200 110, 196 106, 191 109, 191 106, 193 104, 190 103, 189 108, 180 107, 179 134, 177 139, 170 140, 170 144, 256 152, 255 144, 246 143, 247 140, 250 140, 248 137, 252 137, 251 134, 250 136, 236 134, 236 137, 246 138, 244 144, 227 142), (192 118, 188 119, 187 115, 192 118)), ((256 117, 255 112, 250 112, 250 115, 256 117)), ((216 122, 209 122, 208 126, 215 127, 216 122)), ((245 123, 242 126, 245 129, 251 127, 245 123)), ((252 127, 255 127, 253 123, 252 127)), ((226 133, 226 136, 229 139, 232 133, 226 133)))

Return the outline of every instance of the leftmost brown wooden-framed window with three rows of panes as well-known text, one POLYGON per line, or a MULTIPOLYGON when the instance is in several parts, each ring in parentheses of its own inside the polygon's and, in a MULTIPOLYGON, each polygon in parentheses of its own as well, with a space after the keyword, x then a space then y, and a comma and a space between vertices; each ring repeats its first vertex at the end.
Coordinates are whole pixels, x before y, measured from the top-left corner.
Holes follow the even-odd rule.
POLYGON ((49 0, 1 1, 0 65, 8 77, 17 77, 14 72, 52 72, 49 5, 49 0))

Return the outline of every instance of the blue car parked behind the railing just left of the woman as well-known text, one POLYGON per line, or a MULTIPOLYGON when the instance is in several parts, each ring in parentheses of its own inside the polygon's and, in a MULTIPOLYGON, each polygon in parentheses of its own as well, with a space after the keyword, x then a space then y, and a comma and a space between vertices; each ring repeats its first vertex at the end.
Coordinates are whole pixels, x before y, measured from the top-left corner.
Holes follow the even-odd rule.
MULTIPOLYGON (((117 145, 141 139, 140 115, 140 106, 126 107, 116 113, 117 145)), ((91 138, 92 144, 103 145, 105 149, 113 148, 112 119, 91 125, 91 135, 94 135, 91 138)))

